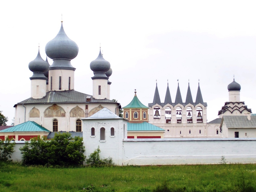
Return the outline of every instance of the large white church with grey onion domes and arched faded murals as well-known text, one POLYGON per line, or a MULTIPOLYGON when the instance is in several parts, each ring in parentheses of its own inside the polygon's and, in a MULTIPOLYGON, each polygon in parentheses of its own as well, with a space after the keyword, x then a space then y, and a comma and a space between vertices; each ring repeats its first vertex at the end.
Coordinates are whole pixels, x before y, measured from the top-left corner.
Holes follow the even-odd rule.
MULTIPOLYGON (((78 46, 68 38, 62 22, 57 36, 46 44, 45 53, 53 63, 50 66, 47 58, 43 60, 39 51, 29 63, 29 69, 33 72, 30 77, 31 97, 14 105, 15 125, 33 121, 50 132, 82 132, 81 118, 89 117, 104 107, 118 115, 120 104, 110 100, 111 82, 108 79, 112 69, 110 63, 102 57, 101 51, 90 63, 94 74, 93 95, 74 90, 76 68, 70 61, 77 56, 78 46)), ((33 128, 24 131, 39 135, 38 132, 33 133, 33 128)), ((21 138, 19 134, 12 134, 14 140, 21 138)), ((47 136, 48 132, 43 135, 47 136)))

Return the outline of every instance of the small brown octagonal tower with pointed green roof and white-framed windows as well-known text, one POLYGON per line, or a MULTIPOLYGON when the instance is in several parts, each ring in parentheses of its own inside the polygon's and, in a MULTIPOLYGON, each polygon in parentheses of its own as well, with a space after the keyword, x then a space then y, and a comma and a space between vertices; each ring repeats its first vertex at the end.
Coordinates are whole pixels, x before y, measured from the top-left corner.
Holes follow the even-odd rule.
POLYGON ((134 93, 133 100, 123 107, 124 119, 127 119, 130 122, 148 122, 148 107, 139 101, 136 95, 136 90, 134 93))

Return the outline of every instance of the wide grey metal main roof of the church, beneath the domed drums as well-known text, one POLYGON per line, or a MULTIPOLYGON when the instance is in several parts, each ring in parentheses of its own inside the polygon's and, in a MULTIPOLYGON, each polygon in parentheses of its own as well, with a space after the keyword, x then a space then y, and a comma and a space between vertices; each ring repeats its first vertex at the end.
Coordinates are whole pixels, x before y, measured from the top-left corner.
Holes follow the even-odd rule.
MULTIPOLYGON (((109 99, 94 99, 92 95, 80 93, 75 90, 70 91, 49 91, 46 93, 45 97, 41 99, 28 98, 21 101, 19 104, 46 104, 46 103, 119 103, 111 101, 109 99), (86 102, 86 98, 91 98, 91 101, 86 102)), ((121 106, 119 106, 121 108, 121 106)))

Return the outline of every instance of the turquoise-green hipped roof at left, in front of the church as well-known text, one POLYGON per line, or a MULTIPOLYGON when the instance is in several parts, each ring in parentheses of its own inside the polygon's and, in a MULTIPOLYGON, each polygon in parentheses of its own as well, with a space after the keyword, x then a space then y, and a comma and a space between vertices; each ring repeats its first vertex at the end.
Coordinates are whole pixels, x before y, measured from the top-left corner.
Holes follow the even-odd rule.
POLYGON ((50 132, 48 129, 45 129, 41 125, 37 124, 34 121, 27 121, 24 123, 21 123, 19 125, 10 127, 8 129, 4 129, 0 132, 50 132))

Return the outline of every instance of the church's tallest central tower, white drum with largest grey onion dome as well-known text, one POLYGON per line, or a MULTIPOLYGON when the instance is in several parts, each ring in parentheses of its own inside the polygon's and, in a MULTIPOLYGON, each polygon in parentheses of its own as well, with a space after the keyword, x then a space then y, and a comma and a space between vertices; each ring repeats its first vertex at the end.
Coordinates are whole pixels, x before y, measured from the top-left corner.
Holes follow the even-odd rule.
POLYGON ((49 67, 49 91, 74 89, 74 68, 70 61, 78 54, 77 44, 68 38, 61 21, 61 29, 45 46, 46 55, 53 60, 49 67))

